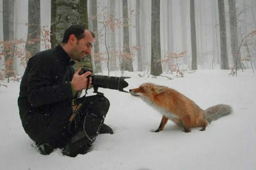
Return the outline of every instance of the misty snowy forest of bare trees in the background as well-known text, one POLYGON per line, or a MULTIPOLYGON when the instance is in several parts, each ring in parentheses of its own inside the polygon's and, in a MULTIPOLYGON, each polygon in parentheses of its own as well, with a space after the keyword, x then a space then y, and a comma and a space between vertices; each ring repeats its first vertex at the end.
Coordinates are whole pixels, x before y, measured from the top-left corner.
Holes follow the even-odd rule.
POLYGON ((256 69, 256 0, 0 0, 0 20, 0 86, 72 24, 94 32, 98 74, 256 69))

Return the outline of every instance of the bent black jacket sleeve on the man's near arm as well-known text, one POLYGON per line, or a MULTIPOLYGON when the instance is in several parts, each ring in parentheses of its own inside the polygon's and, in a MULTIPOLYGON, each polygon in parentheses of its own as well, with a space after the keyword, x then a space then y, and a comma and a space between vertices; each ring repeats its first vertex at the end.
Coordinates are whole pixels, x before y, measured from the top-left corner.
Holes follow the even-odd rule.
POLYGON ((27 77, 28 99, 33 107, 53 104, 67 98, 72 98, 72 88, 69 82, 52 85, 51 65, 44 57, 31 60, 27 77))

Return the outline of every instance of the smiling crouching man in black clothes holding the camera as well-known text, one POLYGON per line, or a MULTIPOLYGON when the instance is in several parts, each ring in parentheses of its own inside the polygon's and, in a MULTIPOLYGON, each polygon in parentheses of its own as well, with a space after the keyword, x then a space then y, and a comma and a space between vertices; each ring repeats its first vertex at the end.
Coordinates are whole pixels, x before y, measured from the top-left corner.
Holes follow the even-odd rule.
POLYGON ((74 73, 74 61, 91 54, 94 34, 80 25, 67 28, 57 47, 29 59, 18 98, 22 126, 42 154, 64 148, 63 154, 85 154, 99 133, 110 133, 103 124, 109 100, 102 95, 76 98, 91 84, 91 72, 74 73))

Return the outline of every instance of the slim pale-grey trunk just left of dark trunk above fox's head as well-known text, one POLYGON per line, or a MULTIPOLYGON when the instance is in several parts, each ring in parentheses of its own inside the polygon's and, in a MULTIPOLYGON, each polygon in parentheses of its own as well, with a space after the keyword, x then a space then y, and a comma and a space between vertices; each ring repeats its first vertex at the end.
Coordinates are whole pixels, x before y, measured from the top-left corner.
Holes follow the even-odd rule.
POLYGON ((140 47, 140 0, 136 0, 136 45, 137 45, 137 59, 138 59, 138 72, 143 72, 142 56, 140 47))

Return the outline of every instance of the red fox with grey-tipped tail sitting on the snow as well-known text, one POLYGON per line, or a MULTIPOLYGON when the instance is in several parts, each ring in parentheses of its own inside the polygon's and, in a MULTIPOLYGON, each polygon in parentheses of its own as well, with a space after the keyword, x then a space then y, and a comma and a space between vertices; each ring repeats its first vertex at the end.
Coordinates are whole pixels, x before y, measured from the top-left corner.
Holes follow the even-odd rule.
POLYGON ((201 127, 200 131, 204 131, 211 121, 233 111, 232 107, 226 104, 214 105, 203 110, 177 90, 153 83, 143 83, 138 88, 129 89, 129 93, 141 98, 163 115, 158 129, 152 132, 162 131, 168 119, 183 127, 185 132, 191 132, 191 128, 196 127, 201 127))

